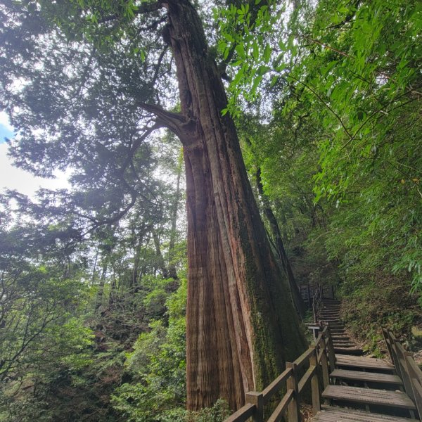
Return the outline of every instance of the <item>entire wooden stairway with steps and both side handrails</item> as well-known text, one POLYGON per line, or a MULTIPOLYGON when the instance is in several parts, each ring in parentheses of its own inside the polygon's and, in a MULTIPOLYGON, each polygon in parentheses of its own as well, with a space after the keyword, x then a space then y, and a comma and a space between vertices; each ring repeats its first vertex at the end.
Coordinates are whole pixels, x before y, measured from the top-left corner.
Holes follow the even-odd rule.
POLYGON ((383 329, 393 364, 360 356, 362 350, 346 335, 338 310, 335 300, 323 301, 314 345, 286 363, 286 370, 262 392, 248 392, 245 406, 225 422, 300 422, 301 393, 309 385, 314 422, 421 421, 422 371, 411 354, 383 329), (266 405, 281 391, 286 393, 267 415, 266 405))

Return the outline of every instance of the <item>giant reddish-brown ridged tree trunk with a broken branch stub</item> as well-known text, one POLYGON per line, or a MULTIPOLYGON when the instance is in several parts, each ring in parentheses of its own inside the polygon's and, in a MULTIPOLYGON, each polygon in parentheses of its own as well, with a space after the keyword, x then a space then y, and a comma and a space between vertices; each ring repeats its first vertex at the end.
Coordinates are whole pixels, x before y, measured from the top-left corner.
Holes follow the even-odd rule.
POLYGON ((271 254, 226 95, 188 0, 167 0, 181 115, 153 110, 184 145, 188 217, 187 407, 232 409, 305 349, 271 254))

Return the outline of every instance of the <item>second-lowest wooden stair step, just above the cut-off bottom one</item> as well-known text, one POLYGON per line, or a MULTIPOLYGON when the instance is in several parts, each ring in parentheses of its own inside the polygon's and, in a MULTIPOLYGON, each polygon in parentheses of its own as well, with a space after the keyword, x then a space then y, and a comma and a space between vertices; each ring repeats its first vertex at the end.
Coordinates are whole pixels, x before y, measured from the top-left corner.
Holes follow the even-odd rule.
POLYGON ((402 391, 376 390, 375 388, 350 387, 349 385, 328 385, 322 393, 322 397, 343 402, 416 410, 414 402, 402 391))

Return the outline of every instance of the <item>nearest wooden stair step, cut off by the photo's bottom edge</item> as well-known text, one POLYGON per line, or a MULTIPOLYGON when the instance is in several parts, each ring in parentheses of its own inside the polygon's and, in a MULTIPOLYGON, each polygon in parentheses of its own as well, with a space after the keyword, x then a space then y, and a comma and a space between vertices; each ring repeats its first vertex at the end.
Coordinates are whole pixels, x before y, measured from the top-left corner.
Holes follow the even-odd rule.
POLYGON ((324 406, 313 418, 313 422, 417 422, 416 419, 398 418, 367 411, 324 406))

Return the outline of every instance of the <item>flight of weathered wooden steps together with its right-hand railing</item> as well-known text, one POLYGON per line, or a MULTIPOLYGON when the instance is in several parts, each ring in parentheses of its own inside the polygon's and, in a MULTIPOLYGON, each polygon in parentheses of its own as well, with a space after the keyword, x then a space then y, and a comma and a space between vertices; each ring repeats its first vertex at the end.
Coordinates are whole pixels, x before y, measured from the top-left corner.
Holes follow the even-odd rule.
POLYGON ((319 318, 321 324, 328 324, 330 327, 335 365, 330 372, 331 384, 326 385, 321 395, 325 404, 313 421, 415 421, 422 411, 422 388, 419 389, 422 377, 416 380, 414 386, 409 383, 406 388, 406 352, 402 345, 394 339, 392 333, 384 331, 385 341, 395 364, 382 359, 362 357, 362 349, 347 336, 339 312, 340 302, 321 300, 319 318), (416 400, 421 402, 419 408, 416 400))

